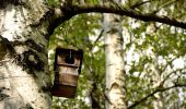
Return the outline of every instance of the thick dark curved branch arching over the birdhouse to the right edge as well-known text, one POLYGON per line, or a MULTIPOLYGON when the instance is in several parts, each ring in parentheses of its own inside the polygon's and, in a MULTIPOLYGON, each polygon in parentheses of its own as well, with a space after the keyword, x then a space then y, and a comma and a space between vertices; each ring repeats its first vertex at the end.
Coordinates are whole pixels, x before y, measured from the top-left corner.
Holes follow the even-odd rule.
POLYGON ((61 14, 59 17, 56 17, 55 21, 51 22, 50 34, 53 34, 54 29, 59 26, 62 22, 70 20, 72 16, 82 13, 113 13, 118 15, 125 15, 132 19, 141 20, 143 22, 159 22, 176 27, 181 27, 186 29, 186 22, 178 21, 168 16, 161 16, 153 13, 139 13, 133 10, 127 10, 120 5, 115 4, 83 4, 83 5, 73 5, 66 3, 60 7, 61 14))

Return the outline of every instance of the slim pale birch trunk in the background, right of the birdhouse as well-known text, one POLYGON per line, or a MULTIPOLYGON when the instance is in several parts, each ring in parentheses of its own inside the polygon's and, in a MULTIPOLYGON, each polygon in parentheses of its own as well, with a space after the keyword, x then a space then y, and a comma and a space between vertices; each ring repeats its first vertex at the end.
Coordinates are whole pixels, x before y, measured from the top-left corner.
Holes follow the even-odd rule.
POLYGON ((126 109, 121 17, 104 14, 103 27, 106 57, 105 107, 106 109, 126 109))

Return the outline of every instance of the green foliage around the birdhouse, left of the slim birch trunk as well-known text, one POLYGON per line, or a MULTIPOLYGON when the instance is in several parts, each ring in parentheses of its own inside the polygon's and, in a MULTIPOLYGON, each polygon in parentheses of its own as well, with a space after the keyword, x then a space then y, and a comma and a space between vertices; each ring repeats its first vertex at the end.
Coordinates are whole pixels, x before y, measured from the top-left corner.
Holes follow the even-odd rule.
MULTIPOLYGON (((54 109, 61 109, 61 107, 62 109, 89 109, 91 106, 85 99, 92 97, 90 96, 92 92, 94 93, 93 97, 98 97, 98 99, 96 98, 98 105, 104 107, 105 58, 103 43, 97 41, 100 33, 97 21, 100 21, 100 15, 96 14, 94 16, 92 14, 77 15, 57 27, 54 35, 50 36, 49 49, 60 46, 84 51, 77 97, 73 99, 54 98, 54 109), (93 87, 93 84, 96 84, 96 88, 93 87)), ((50 59, 54 60, 54 55, 50 59)))

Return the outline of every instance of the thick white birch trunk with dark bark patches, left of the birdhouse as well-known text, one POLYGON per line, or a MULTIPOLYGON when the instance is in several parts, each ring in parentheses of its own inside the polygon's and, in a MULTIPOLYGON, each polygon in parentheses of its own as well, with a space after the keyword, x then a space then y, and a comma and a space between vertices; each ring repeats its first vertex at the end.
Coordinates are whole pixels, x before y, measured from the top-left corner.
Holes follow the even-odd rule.
POLYGON ((50 109, 45 0, 0 4, 0 109, 50 109))

